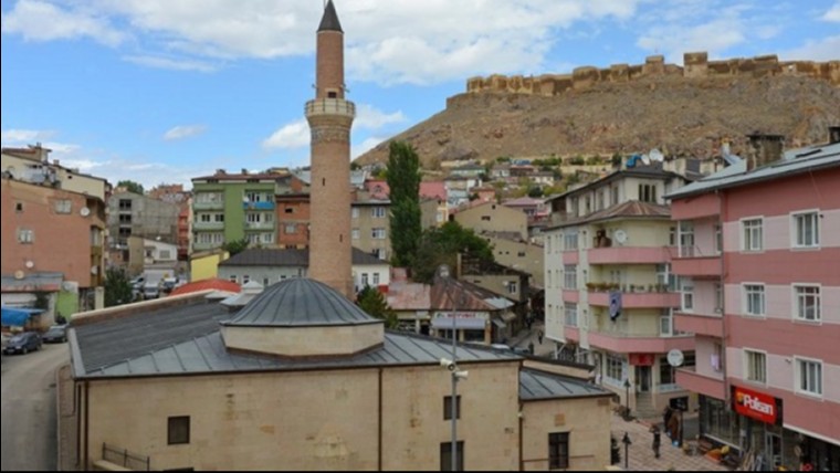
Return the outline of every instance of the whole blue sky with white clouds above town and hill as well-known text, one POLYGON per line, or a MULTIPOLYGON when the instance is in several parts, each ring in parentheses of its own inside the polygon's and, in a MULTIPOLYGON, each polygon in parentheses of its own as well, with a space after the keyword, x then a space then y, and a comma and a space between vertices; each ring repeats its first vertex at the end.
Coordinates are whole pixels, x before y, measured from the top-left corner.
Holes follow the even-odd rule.
MULTIPOLYGON (((840 0, 334 0, 353 157, 476 75, 663 54, 840 60, 840 0)), ((306 166, 324 0, 0 0, 3 147, 147 189, 306 166)))

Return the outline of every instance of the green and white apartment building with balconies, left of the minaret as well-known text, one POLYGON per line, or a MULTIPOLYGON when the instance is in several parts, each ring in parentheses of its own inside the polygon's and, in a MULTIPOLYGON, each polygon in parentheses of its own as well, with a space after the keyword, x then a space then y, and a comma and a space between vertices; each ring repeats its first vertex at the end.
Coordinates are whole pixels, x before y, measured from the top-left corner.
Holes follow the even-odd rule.
POLYGON ((192 251, 221 248, 246 239, 250 245, 276 244, 274 174, 228 174, 192 179, 192 251))

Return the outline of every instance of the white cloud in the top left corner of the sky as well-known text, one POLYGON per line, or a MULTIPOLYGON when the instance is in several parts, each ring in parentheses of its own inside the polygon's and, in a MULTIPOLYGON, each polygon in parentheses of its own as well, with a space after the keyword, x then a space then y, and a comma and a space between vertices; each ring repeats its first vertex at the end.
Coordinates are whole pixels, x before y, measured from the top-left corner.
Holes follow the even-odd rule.
POLYGON ((117 46, 126 35, 113 29, 99 12, 76 7, 64 10, 39 0, 20 0, 2 14, 2 32, 20 34, 28 41, 76 40, 91 38, 108 46, 117 46))

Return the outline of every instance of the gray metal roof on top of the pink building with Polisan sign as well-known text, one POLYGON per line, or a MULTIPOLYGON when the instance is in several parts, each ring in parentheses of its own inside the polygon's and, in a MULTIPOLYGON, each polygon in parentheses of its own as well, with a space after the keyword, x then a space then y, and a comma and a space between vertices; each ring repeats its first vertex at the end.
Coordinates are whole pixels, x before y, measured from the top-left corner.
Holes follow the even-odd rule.
POLYGON ((791 149, 785 151, 784 159, 757 168, 750 172, 746 171, 746 160, 742 160, 705 179, 680 188, 675 192, 665 196, 665 198, 676 199, 710 192, 715 189, 780 179, 799 172, 837 167, 840 166, 840 143, 791 149))

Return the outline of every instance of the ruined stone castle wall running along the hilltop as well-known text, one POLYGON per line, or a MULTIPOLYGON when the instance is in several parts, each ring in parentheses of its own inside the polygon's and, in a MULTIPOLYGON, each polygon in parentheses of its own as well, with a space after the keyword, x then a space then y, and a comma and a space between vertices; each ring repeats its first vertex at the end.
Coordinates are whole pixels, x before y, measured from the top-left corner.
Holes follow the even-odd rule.
POLYGON ((797 75, 820 78, 840 86, 840 61, 779 61, 773 55, 747 59, 708 61, 705 52, 685 53, 683 66, 666 64, 662 55, 648 56, 644 64, 612 64, 609 69, 584 66, 571 74, 543 74, 538 76, 500 75, 471 77, 466 93, 515 93, 533 95, 561 95, 570 91, 585 91, 602 82, 631 82, 642 77, 674 76, 686 80, 704 77, 764 77, 797 75))

